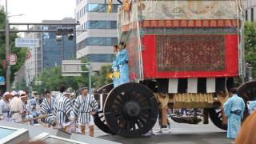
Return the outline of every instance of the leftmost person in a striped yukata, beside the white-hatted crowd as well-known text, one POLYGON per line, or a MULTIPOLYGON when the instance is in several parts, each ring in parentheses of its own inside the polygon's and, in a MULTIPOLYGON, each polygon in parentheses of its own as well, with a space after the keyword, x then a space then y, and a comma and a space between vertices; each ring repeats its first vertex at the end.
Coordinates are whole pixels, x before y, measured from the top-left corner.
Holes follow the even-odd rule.
POLYGON ((56 114, 54 113, 54 109, 55 109, 55 98, 51 96, 51 92, 50 90, 46 90, 45 92, 46 94, 46 98, 44 98, 42 100, 42 103, 40 105, 40 112, 43 115, 48 115, 48 114, 53 114, 49 117, 46 117, 43 119, 43 122, 47 123, 47 126, 50 127, 51 126, 55 126, 56 122, 56 114))

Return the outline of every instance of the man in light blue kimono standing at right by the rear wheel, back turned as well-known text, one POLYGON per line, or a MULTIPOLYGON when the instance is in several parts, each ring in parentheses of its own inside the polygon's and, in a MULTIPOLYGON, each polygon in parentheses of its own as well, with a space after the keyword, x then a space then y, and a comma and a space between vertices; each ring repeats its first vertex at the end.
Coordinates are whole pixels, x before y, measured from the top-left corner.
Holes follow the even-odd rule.
MULTIPOLYGON (((241 128, 241 121, 245 110, 245 102, 238 97, 237 89, 230 90, 231 98, 224 103, 224 112, 228 117, 227 138, 235 139, 241 128)), ((234 142, 231 142, 234 143, 234 142)))

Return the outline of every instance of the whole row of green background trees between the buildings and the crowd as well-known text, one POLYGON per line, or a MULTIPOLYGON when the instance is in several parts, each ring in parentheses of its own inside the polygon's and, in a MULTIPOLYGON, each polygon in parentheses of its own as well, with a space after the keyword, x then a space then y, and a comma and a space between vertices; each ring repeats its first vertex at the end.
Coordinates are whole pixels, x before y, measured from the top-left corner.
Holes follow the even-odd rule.
MULTIPOLYGON (((86 66, 82 66, 83 71, 87 71, 86 66)), ((92 77, 92 86, 98 89, 101 86, 111 83, 111 79, 107 78, 107 74, 110 73, 111 66, 102 66, 99 74, 95 74, 92 77)), ((38 94, 43 94, 45 90, 58 91, 58 87, 62 84, 67 87, 71 87, 74 90, 78 90, 82 86, 89 86, 89 75, 83 73, 79 77, 62 77, 61 66, 51 68, 50 70, 44 70, 39 74, 38 78, 32 83, 33 91, 38 91, 38 94), (41 85, 36 85, 38 81, 42 82, 41 85)))

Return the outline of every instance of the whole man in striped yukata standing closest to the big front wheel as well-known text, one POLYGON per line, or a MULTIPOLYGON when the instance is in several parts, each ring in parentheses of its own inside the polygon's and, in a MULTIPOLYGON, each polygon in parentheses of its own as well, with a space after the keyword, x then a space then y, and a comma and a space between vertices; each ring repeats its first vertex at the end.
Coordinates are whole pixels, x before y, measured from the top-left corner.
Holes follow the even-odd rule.
POLYGON ((90 129, 90 136, 94 137, 94 115, 98 111, 98 103, 93 94, 88 94, 88 88, 83 87, 82 94, 74 101, 74 121, 78 120, 81 133, 86 134, 86 125, 90 129))

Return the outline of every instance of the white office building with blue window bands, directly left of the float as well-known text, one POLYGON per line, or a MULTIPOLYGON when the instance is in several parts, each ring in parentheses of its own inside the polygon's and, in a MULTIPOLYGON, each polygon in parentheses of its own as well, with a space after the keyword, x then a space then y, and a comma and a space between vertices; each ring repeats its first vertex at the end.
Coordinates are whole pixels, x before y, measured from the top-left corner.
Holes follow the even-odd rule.
POLYGON ((117 12, 107 13, 106 0, 77 0, 77 58, 86 58, 94 71, 113 62, 114 45, 118 44, 117 12))

